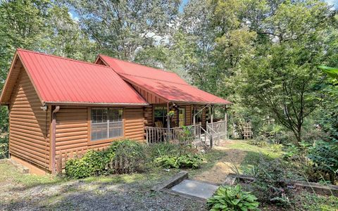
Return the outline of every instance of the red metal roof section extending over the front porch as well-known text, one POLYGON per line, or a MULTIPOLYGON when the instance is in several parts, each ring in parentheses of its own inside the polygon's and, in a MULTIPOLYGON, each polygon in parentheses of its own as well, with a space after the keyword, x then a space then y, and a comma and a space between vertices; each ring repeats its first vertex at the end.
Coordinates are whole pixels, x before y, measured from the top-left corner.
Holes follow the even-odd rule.
MULTIPOLYGON (((197 89, 185 82, 177 74, 130 63, 109 56, 99 58, 120 74, 127 82, 149 90, 168 101, 187 103, 230 104, 223 98, 197 89)), ((97 61, 97 60, 96 60, 97 61)))

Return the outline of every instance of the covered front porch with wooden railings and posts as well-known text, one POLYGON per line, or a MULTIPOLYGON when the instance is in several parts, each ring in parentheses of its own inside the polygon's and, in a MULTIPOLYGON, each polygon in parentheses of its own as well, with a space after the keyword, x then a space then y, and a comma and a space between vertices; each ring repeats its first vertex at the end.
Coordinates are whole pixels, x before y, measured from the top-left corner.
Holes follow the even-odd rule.
POLYGON ((189 139, 212 147, 214 143, 227 137, 226 109, 226 106, 178 103, 152 105, 145 114, 146 143, 189 139), (218 118, 214 119, 215 108, 220 110, 218 118), (219 118, 220 113, 223 118, 219 118))

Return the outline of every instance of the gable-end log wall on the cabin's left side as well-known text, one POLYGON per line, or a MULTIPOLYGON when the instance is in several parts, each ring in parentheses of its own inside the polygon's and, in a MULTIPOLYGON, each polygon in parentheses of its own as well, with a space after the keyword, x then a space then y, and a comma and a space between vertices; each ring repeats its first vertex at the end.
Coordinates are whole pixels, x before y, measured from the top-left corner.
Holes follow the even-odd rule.
POLYGON ((51 108, 42 103, 22 65, 9 105, 9 150, 11 155, 49 170, 51 108))

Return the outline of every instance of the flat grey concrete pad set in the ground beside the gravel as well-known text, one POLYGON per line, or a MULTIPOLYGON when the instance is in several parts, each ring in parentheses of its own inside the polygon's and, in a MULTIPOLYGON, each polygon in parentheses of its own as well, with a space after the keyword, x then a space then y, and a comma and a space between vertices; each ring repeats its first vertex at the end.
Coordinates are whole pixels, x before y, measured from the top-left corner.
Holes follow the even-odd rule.
POLYGON ((171 190, 177 193, 207 199, 213 196, 217 188, 218 186, 203 181, 184 179, 180 184, 173 186, 171 190))

